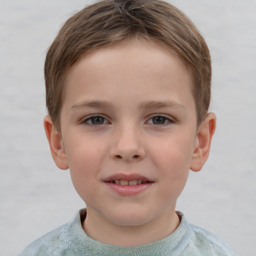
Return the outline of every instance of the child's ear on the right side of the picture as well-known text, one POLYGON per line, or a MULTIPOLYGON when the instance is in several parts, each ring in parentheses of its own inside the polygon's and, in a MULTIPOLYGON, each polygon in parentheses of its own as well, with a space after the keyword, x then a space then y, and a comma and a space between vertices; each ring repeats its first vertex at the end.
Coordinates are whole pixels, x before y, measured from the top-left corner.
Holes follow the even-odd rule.
POLYGON ((216 116, 208 113, 197 129, 190 169, 199 171, 208 158, 210 143, 216 127, 216 116))

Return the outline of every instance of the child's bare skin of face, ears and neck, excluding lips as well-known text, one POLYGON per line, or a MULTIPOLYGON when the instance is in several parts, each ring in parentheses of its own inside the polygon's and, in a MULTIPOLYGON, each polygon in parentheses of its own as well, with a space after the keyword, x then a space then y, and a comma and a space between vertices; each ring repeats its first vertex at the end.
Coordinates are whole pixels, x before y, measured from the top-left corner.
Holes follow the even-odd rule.
POLYGON ((200 170, 208 157, 215 120, 208 113, 197 126, 188 71, 154 42, 131 39, 74 64, 61 131, 49 116, 44 127, 56 165, 70 169, 86 203, 84 231, 118 246, 171 234, 179 224, 176 199, 189 168, 200 170), (143 175, 150 184, 120 195, 106 184, 117 173, 143 175))

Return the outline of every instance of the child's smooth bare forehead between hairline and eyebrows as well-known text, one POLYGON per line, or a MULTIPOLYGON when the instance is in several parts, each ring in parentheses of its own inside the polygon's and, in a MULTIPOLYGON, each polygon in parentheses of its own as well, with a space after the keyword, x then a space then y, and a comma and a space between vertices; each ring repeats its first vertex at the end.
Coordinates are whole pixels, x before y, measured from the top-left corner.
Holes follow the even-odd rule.
POLYGON ((117 90, 119 100, 135 91, 144 97, 153 90, 160 99, 174 83, 176 90, 187 86, 190 91, 190 77, 180 58, 156 42, 130 39, 98 48, 76 62, 67 73, 64 102, 75 104, 91 93, 107 97, 117 90))

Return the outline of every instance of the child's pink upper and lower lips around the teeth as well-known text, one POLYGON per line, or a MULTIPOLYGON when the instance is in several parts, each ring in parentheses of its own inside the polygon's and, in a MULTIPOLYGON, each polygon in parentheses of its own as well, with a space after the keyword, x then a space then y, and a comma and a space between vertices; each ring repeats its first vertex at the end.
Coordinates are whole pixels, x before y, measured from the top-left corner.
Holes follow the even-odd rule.
POLYGON ((130 174, 117 173, 117 174, 110 175, 106 179, 104 179, 104 183, 114 193, 117 193, 117 194, 123 195, 123 196, 129 196, 129 195, 136 195, 136 194, 142 193, 143 191, 150 188, 154 182, 145 176, 135 174, 135 173, 130 173, 130 174), (141 183, 141 184, 136 184, 136 185, 121 185, 121 184, 109 182, 109 181, 115 180, 115 179, 120 179, 120 180, 121 179, 123 179, 123 180, 142 179, 143 181, 147 181, 147 182, 141 183))

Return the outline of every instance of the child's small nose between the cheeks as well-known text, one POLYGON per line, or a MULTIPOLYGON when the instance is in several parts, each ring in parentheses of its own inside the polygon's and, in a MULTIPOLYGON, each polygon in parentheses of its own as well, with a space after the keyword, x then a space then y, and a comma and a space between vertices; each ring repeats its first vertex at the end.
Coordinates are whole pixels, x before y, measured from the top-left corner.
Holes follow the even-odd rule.
POLYGON ((140 161, 145 157, 141 132, 135 127, 116 127, 113 132, 110 156, 115 160, 140 161))

